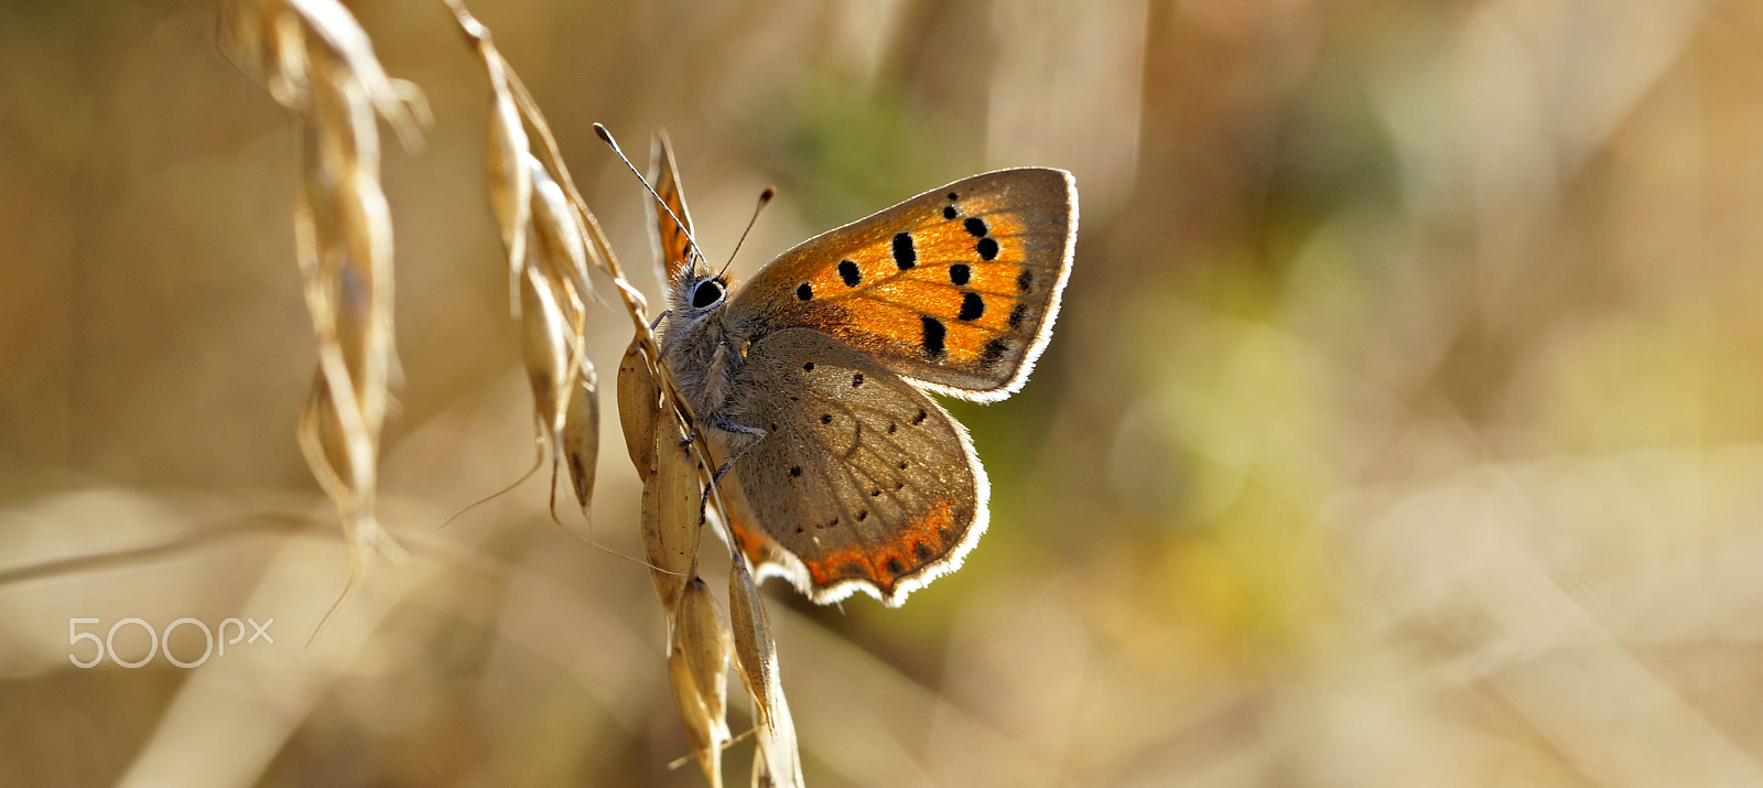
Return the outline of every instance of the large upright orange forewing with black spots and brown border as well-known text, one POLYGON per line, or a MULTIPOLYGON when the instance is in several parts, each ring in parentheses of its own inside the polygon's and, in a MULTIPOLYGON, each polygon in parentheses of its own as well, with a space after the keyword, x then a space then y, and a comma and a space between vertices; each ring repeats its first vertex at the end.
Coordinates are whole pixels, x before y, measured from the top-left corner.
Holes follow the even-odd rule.
POLYGON ((785 252, 732 296, 728 326, 813 328, 936 391, 998 400, 1053 333, 1075 234, 1070 173, 977 175, 785 252))

